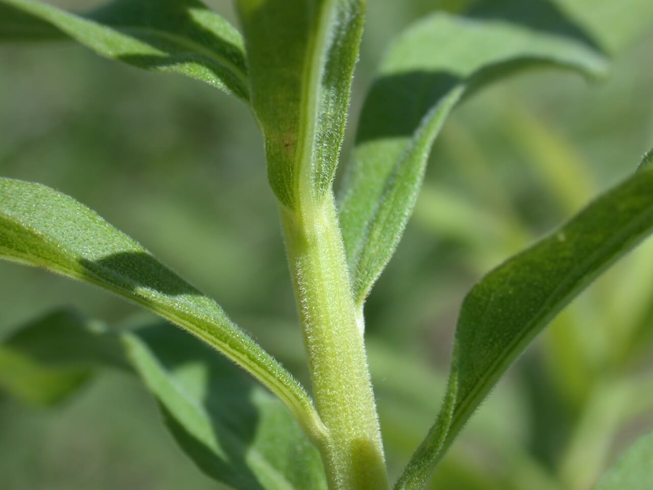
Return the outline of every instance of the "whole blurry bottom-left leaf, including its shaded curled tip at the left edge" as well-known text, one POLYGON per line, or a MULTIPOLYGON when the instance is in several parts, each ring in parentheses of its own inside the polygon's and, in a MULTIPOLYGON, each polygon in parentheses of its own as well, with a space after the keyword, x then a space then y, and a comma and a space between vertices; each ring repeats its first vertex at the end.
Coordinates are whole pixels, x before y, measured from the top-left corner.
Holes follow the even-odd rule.
POLYGON ((234 489, 326 490, 317 449, 278 399, 172 325, 131 323, 119 333, 70 310, 31 322, 0 344, 0 366, 15 367, 5 363, 5 352, 20 355, 56 384, 35 385, 22 371, 0 370, 0 387, 21 399, 59 388, 70 395, 79 384, 65 384, 67 374, 120 368, 142 378, 176 441, 214 480, 234 489))

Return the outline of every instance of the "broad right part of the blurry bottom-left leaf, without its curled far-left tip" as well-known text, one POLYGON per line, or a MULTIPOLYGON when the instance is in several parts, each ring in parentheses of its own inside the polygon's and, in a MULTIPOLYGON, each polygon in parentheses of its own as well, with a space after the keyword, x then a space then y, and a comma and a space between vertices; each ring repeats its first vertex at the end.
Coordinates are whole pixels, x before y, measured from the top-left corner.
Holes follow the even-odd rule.
POLYGON ((235 489, 326 490, 319 453, 289 410, 189 335, 153 324, 125 335, 168 429, 206 474, 235 489))

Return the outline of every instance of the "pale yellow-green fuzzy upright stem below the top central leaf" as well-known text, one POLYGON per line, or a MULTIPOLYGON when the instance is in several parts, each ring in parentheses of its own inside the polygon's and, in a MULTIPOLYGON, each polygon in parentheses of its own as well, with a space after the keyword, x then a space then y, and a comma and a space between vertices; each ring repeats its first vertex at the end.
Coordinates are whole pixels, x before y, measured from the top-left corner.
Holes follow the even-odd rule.
POLYGON ((387 489, 383 445, 360 314, 353 301, 332 193, 281 207, 288 259, 308 349, 320 448, 331 489, 387 489), (308 203, 307 203, 308 201, 308 203))

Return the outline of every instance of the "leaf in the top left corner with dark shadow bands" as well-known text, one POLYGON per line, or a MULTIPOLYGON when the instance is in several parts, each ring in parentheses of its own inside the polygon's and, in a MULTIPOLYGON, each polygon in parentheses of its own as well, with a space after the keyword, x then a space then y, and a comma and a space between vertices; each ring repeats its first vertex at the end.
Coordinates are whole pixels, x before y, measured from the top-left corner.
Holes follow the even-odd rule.
POLYGON ((50 39, 73 39, 101 56, 249 98, 240 34, 199 0, 114 0, 85 15, 0 0, 0 41, 50 39))

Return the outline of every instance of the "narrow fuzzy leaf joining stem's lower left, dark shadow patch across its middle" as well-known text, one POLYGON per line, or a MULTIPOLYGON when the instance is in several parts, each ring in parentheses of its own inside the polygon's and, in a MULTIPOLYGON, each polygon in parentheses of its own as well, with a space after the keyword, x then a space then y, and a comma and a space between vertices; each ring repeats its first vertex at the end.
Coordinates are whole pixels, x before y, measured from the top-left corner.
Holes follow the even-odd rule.
POLYGON ((96 284, 180 325, 257 378, 291 408, 311 437, 321 438, 310 397, 274 357, 212 299, 71 197, 0 178, 0 259, 96 284))

